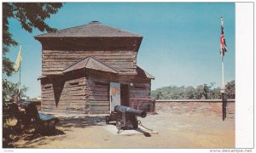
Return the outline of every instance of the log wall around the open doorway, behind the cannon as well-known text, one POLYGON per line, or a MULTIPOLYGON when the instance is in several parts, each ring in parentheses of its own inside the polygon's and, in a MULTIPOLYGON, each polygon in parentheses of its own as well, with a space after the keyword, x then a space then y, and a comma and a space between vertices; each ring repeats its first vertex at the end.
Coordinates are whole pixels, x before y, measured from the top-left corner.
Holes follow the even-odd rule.
MULTIPOLYGON (((129 106, 131 98, 150 98, 151 80, 136 76, 116 76, 110 73, 89 71, 88 74, 89 102, 86 105, 86 113, 108 113, 109 111, 109 82, 128 84, 129 106), (131 86, 131 82, 133 86, 131 86)), ((141 107, 148 110, 148 103, 141 107)))

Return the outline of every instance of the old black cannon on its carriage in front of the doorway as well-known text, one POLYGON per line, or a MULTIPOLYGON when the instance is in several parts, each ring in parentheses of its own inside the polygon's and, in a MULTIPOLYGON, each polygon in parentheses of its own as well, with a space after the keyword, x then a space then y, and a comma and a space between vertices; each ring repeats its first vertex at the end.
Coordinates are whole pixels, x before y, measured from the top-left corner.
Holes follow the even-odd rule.
POLYGON ((137 116, 146 117, 146 111, 132 109, 124 105, 116 105, 114 111, 106 116, 106 123, 116 122, 118 130, 121 129, 136 129, 138 127, 137 116))

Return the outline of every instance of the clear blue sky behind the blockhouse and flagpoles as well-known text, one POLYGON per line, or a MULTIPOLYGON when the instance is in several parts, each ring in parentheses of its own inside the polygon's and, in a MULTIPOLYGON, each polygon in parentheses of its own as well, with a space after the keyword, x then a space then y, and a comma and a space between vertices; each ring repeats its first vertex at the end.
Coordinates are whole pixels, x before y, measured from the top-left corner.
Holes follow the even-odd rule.
MULTIPOLYGON (((220 87, 221 56, 220 17, 224 17, 224 35, 228 52, 224 56, 224 80, 235 80, 235 3, 65 3, 46 22, 56 29, 88 24, 98 20, 103 25, 143 36, 137 65, 155 77, 151 88, 170 85, 193 86, 215 82, 220 87)), ((42 46, 33 37, 42 32, 23 30, 16 20, 9 20, 15 40, 22 45, 21 86, 26 94, 38 97, 38 77, 42 74, 42 46)), ((15 62, 19 47, 10 48, 15 62)), ((19 81, 19 73, 6 77, 19 81)))

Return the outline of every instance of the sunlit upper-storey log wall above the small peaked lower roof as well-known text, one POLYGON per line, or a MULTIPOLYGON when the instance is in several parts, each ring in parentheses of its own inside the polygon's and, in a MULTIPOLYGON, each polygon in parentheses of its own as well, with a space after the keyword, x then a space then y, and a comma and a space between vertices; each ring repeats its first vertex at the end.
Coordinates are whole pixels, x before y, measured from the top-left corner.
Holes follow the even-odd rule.
POLYGON ((61 74, 68 66, 77 63, 88 56, 95 57, 103 63, 112 66, 121 74, 136 74, 137 52, 135 51, 65 51, 43 50, 43 75, 61 74))

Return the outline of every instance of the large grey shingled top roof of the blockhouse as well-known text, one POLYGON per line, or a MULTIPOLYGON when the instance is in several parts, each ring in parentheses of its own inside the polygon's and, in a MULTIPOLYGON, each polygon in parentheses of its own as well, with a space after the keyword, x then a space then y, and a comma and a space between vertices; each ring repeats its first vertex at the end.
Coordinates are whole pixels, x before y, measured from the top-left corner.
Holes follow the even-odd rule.
POLYGON ((113 27, 104 26, 98 21, 92 21, 87 25, 75 26, 51 33, 45 33, 41 37, 142 37, 129 31, 119 30, 113 27))

